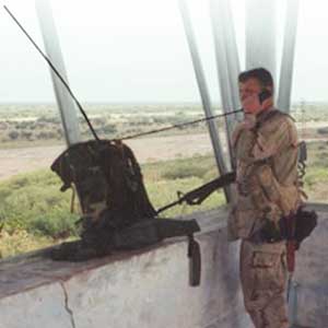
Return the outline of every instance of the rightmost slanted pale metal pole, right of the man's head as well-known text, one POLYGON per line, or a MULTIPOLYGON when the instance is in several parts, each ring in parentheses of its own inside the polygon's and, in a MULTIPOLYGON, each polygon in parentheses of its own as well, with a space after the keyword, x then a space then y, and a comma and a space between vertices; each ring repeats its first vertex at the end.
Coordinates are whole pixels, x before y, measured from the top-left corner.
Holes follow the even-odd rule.
POLYGON ((298 3, 298 0, 288 0, 288 9, 285 15, 278 108, 286 113, 289 113, 291 109, 291 92, 297 33, 298 3))

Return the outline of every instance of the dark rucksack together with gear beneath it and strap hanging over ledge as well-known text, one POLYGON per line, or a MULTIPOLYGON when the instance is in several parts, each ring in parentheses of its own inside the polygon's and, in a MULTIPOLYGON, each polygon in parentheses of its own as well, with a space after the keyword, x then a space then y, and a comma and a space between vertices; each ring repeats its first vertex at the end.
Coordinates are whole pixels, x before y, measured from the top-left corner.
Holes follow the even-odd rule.
POLYGON ((167 237, 188 236, 189 250, 198 247, 191 258, 198 263, 192 285, 199 284, 200 251, 192 237, 200 231, 198 223, 155 218, 130 148, 119 141, 81 142, 66 150, 51 169, 63 181, 62 191, 77 189, 84 214, 77 223, 81 239, 54 248, 54 260, 83 261, 115 250, 140 249, 167 237))

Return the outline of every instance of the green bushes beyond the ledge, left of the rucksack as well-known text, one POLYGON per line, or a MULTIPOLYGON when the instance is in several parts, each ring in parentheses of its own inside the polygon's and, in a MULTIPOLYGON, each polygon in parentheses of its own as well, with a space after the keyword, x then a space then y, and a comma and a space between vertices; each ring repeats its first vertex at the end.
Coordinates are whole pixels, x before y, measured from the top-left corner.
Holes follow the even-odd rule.
POLYGON ((70 213, 70 192, 60 192, 61 183, 51 172, 21 175, 0 184, 0 220, 8 231, 26 230, 57 237, 74 234, 78 214, 70 213))

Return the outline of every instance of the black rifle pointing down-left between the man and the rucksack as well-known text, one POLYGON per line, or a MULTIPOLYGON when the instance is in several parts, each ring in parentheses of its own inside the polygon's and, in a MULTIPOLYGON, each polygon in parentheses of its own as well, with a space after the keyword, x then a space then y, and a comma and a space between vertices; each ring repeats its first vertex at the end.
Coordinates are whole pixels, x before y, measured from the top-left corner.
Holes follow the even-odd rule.
POLYGON ((219 188, 222 188, 224 186, 227 186, 235 181, 236 179, 236 173, 235 172, 230 172, 226 173, 209 183, 206 185, 202 185, 187 194, 183 194, 180 191, 177 192, 178 195, 178 200, 171 202, 166 204, 163 208, 160 208, 156 211, 156 214, 160 214, 161 212, 171 209, 177 204, 180 204, 183 202, 186 202, 187 204, 195 206, 195 204, 200 204, 202 203, 213 191, 215 191, 219 188))

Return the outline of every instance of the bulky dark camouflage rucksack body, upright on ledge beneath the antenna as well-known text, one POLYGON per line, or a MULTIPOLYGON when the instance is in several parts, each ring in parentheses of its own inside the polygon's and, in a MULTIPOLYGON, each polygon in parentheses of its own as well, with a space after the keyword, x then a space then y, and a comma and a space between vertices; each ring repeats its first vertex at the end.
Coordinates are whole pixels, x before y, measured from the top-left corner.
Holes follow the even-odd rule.
MULTIPOLYGON (((124 143, 109 140, 77 143, 54 162, 51 169, 62 179, 62 191, 75 187, 83 214, 94 220, 104 209, 120 213, 119 222, 113 222, 115 227, 155 214, 137 159, 124 143)), ((108 218, 114 219, 115 215, 108 218)))

